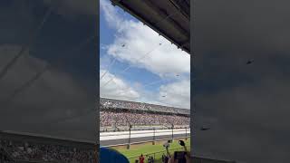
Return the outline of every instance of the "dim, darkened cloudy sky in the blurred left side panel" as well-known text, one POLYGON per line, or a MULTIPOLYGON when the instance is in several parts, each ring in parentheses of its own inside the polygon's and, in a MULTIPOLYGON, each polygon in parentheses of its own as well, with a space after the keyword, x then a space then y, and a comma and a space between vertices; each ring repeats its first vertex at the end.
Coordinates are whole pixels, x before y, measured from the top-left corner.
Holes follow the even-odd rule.
POLYGON ((98 138, 98 5, 78 2, 0 2, 1 130, 98 138))

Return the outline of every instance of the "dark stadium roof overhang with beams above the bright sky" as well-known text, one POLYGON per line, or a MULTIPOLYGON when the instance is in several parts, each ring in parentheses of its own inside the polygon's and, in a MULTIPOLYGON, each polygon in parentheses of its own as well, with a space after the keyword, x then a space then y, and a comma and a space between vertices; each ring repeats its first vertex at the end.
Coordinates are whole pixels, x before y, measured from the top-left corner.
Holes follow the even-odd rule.
POLYGON ((111 0, 111 3, 190 53, 189 0, 111 0))

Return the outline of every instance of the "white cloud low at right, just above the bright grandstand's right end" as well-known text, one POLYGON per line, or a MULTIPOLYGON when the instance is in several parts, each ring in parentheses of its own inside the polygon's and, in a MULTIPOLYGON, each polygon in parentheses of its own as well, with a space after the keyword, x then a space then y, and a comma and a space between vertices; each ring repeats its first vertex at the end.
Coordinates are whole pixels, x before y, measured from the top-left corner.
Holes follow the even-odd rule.
POLYGON ((172 106, 179 108, 190 108, 190 82, 183 80, 161 85, 159 99, 172 106))

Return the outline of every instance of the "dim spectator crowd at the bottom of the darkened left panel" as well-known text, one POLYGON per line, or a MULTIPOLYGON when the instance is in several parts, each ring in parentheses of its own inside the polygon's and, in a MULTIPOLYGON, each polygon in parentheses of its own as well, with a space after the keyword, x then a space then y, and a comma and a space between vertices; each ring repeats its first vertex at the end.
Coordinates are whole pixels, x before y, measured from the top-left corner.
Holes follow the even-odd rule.
POLYGON ((16 161, 92 163, 93 149, 0 140, 0 148, 16 161))

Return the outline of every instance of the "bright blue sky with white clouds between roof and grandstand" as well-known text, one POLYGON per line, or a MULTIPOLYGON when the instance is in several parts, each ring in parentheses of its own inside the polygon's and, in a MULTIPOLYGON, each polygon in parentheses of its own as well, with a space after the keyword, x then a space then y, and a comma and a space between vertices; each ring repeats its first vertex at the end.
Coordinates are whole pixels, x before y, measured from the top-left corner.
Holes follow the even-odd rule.
POLYGON ((100 5, 101 97, 189 109, 189 54, 109 0, 100 5))

